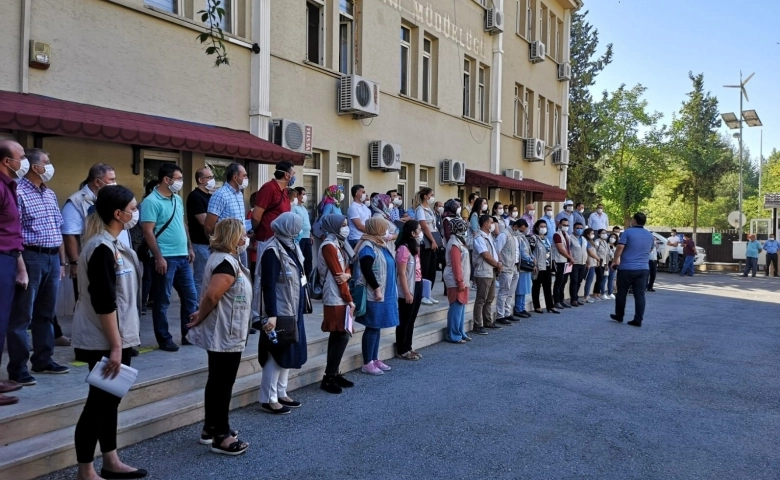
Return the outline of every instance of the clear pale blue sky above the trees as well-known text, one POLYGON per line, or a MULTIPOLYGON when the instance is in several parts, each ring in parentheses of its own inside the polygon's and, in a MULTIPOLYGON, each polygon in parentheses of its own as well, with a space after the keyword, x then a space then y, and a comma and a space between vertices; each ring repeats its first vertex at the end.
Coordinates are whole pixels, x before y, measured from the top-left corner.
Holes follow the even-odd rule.
MULTIPOLYGON (((739 110, 739 89, 763 127, 744 126, 744 145, 758 158, 763 130, 764 158, 780 150, 780 1, 778 0, 584 0, 588 21, 599 31, 600 52, 613 44, 614 59, 597 77, 592 93, 621 84, 647 87, 649 110, 671 122, 692 89, 688 72, 704 74, 704 85, 721 112, 739 110)), ((737 115, 739 116, 739 115, 737 115)), ((725 124, 723 132, 730 132, 725 124)))

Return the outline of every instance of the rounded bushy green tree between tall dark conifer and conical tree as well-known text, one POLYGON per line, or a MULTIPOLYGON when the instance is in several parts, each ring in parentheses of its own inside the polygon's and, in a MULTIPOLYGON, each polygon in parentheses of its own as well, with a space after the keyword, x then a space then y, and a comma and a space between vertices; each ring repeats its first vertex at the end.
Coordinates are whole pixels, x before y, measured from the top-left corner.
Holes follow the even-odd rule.
POLYGON ((598 184, 608 211, 627 225, 631 216, 646 205, 666 169, 664 137, 666 127, 658 126, 662 115, 647 111, 642 95, 647 89, 621 85, 611 94, 604 92, 596 106, 601 124, 599 166, 607 175, 598 184))

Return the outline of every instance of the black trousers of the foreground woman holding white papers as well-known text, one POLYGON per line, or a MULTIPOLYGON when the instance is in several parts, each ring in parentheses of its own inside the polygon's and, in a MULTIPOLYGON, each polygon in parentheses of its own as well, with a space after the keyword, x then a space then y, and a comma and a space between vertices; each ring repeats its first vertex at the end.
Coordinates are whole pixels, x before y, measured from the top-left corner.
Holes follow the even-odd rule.
MULTIPOLYGON (((76 356, 89 364, 90 371, 103 357, 109 357, 109 350, 83 350, 76 348, 76 356)), ((122 363, 130 366, 130 349, 122 349, 122 363)), ((90 385, 87 402, 76 424, 76 461, 92 463, 95 447, 100 442, 103 453, 116 450, 116 425, 119 416, 119 402, 122 399, 90 385)))

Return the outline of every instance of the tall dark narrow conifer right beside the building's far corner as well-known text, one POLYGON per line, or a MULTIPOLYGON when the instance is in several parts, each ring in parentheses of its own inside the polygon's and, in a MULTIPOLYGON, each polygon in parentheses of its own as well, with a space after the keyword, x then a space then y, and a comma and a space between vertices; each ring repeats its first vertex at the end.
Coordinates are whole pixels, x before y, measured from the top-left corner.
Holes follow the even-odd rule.
POLYGON ((594 205, 599 200, 596 184, 601 180, 601 172, 596 168, 600 158, 600 125, 590 88, 598 74, 612 62, 612 44, 607 45, 602 55, 596 53, 599 32, 586 20, 587 15, 587 11, 572 15, 567 187, 569 198, 594 205))

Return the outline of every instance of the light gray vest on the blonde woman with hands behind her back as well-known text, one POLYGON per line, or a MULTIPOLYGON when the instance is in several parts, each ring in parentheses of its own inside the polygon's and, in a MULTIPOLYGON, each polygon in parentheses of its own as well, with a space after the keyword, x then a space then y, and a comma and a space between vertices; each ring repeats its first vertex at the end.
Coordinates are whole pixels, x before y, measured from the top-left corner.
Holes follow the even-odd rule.
POLYGON ((214 310, 209 312, 201 323, 190 329, 187 339, 193 345, 210 352, 243 352, 252 316, 252 282, 249 280, 249 270, 241 265, 237 256, 214 252, 206 262, 201 290, 206 292, 214 269, 225 260, 237 273, 236 279, 219 299, 214 310))

